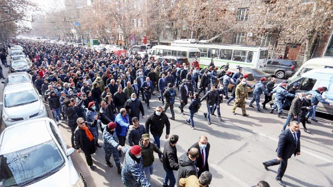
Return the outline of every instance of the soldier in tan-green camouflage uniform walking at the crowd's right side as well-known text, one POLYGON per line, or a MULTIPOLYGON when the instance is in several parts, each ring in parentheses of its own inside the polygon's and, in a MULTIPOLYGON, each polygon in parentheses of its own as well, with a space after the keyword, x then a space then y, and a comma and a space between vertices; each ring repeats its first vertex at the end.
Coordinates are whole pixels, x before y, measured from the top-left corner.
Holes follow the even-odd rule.
POLYGON ((245 111, 245 99, 247 99, 247 85, 246 85, 245 78, 243 78, 241 83, 237 85, 235 95, 236 95, 236 97, 235 97, 235 103, 234 103, 232 113, 234 115, 236 115, 235 110, 236 110, 238 104, 240 104, 240 107, 242 108, 243 116, 248 116, 248 114, 246 114, 246 111, 245 111))

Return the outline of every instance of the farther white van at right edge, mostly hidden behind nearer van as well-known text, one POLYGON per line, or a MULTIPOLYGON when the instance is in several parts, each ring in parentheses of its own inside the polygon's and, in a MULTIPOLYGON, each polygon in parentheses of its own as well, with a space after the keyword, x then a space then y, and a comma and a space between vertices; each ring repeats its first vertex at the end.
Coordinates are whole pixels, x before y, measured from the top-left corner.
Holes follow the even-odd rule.
POLYGON ((297 72, 292 77, 289 77, 288 80, 292 80, 310 70, 321 68, 333 68, 333 58, 321 57, 309 59, 297 70, 297 72))

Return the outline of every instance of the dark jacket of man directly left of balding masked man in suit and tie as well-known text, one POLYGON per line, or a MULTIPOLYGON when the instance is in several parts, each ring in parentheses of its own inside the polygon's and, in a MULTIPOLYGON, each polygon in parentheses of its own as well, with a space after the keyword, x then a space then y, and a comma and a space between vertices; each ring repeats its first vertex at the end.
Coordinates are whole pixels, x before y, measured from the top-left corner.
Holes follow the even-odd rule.
POLYGON ((189 158, 188 153, 184 153, 179 157, 179 171, 178 171, 178 179, 177 186, 179 186, 180 178, 187 178, 191 175, 195 175, 198 177, 197 166, 195 165, 195 161, 193 162, 189 158))

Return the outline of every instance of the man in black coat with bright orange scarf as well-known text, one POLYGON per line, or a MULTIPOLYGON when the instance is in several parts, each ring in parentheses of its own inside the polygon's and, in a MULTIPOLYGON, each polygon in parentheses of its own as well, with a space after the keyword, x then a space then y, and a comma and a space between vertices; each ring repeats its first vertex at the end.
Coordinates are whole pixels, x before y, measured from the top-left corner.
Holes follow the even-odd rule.
POLYGON ((88 165, 90 166, 90 169, 95 170, 91 155, 95 153, 96 148, 94 136, 91 132, 92 127, 97 125, 97 116, 95 116, 95 119, 92 123, 87 121, 85 122, 84 118, 81 117, 78 118, 76 122, 78 126, 74 132, 74 149, 76 149, 78 153, 80 153, 81 149, 85 153, 85 157, 88 165))

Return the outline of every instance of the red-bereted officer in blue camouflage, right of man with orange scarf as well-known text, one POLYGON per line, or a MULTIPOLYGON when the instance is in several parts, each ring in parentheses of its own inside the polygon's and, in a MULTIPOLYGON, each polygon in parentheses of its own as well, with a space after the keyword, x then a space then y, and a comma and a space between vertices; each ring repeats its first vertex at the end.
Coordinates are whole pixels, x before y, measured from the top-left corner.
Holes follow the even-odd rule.
POLYGON ((107 165, 109 167, 113 167, 112 163, 110 162, 111 155, 113 154, 114 162, 117 165, 118 174, 121 174, 120 169, 120 160, 119 160, 119 151, 121 150, 121 146, 119 145, 117 134, 116 134, 116 123, 109 122, 109 124, 103 124, 103 147, 105 151, 105 160, 107 161, 107 165))

